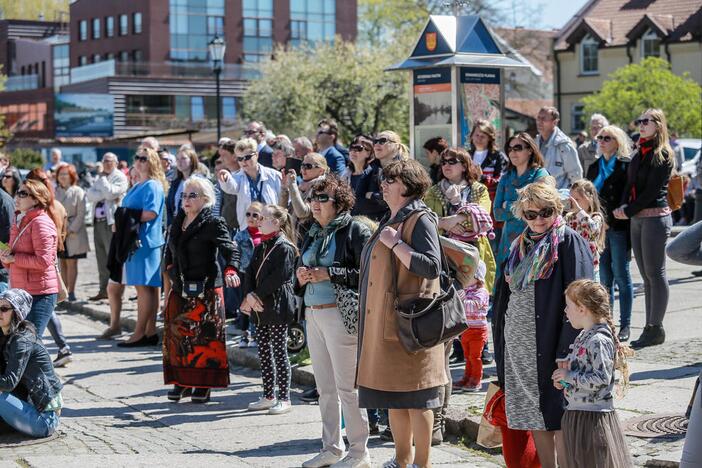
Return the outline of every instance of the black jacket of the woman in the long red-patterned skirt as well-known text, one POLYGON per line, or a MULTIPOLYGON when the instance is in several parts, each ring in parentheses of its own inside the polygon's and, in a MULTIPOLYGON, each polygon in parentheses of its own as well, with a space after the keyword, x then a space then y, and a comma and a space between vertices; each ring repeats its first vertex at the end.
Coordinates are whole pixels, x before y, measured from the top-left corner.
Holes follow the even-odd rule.
POLYGON ((223 218, 214 216, 210 208, 203 208, 183 231, 185 212, 180 210, 173 219, 168 248, 164 262, 173 289, 181 293, 183 281, 203 281, 205 289, 223 286, 222 271, 218 257, 221 255, 227 267, 239 270, 240 252, 229 237, 229 229, 223 218))

